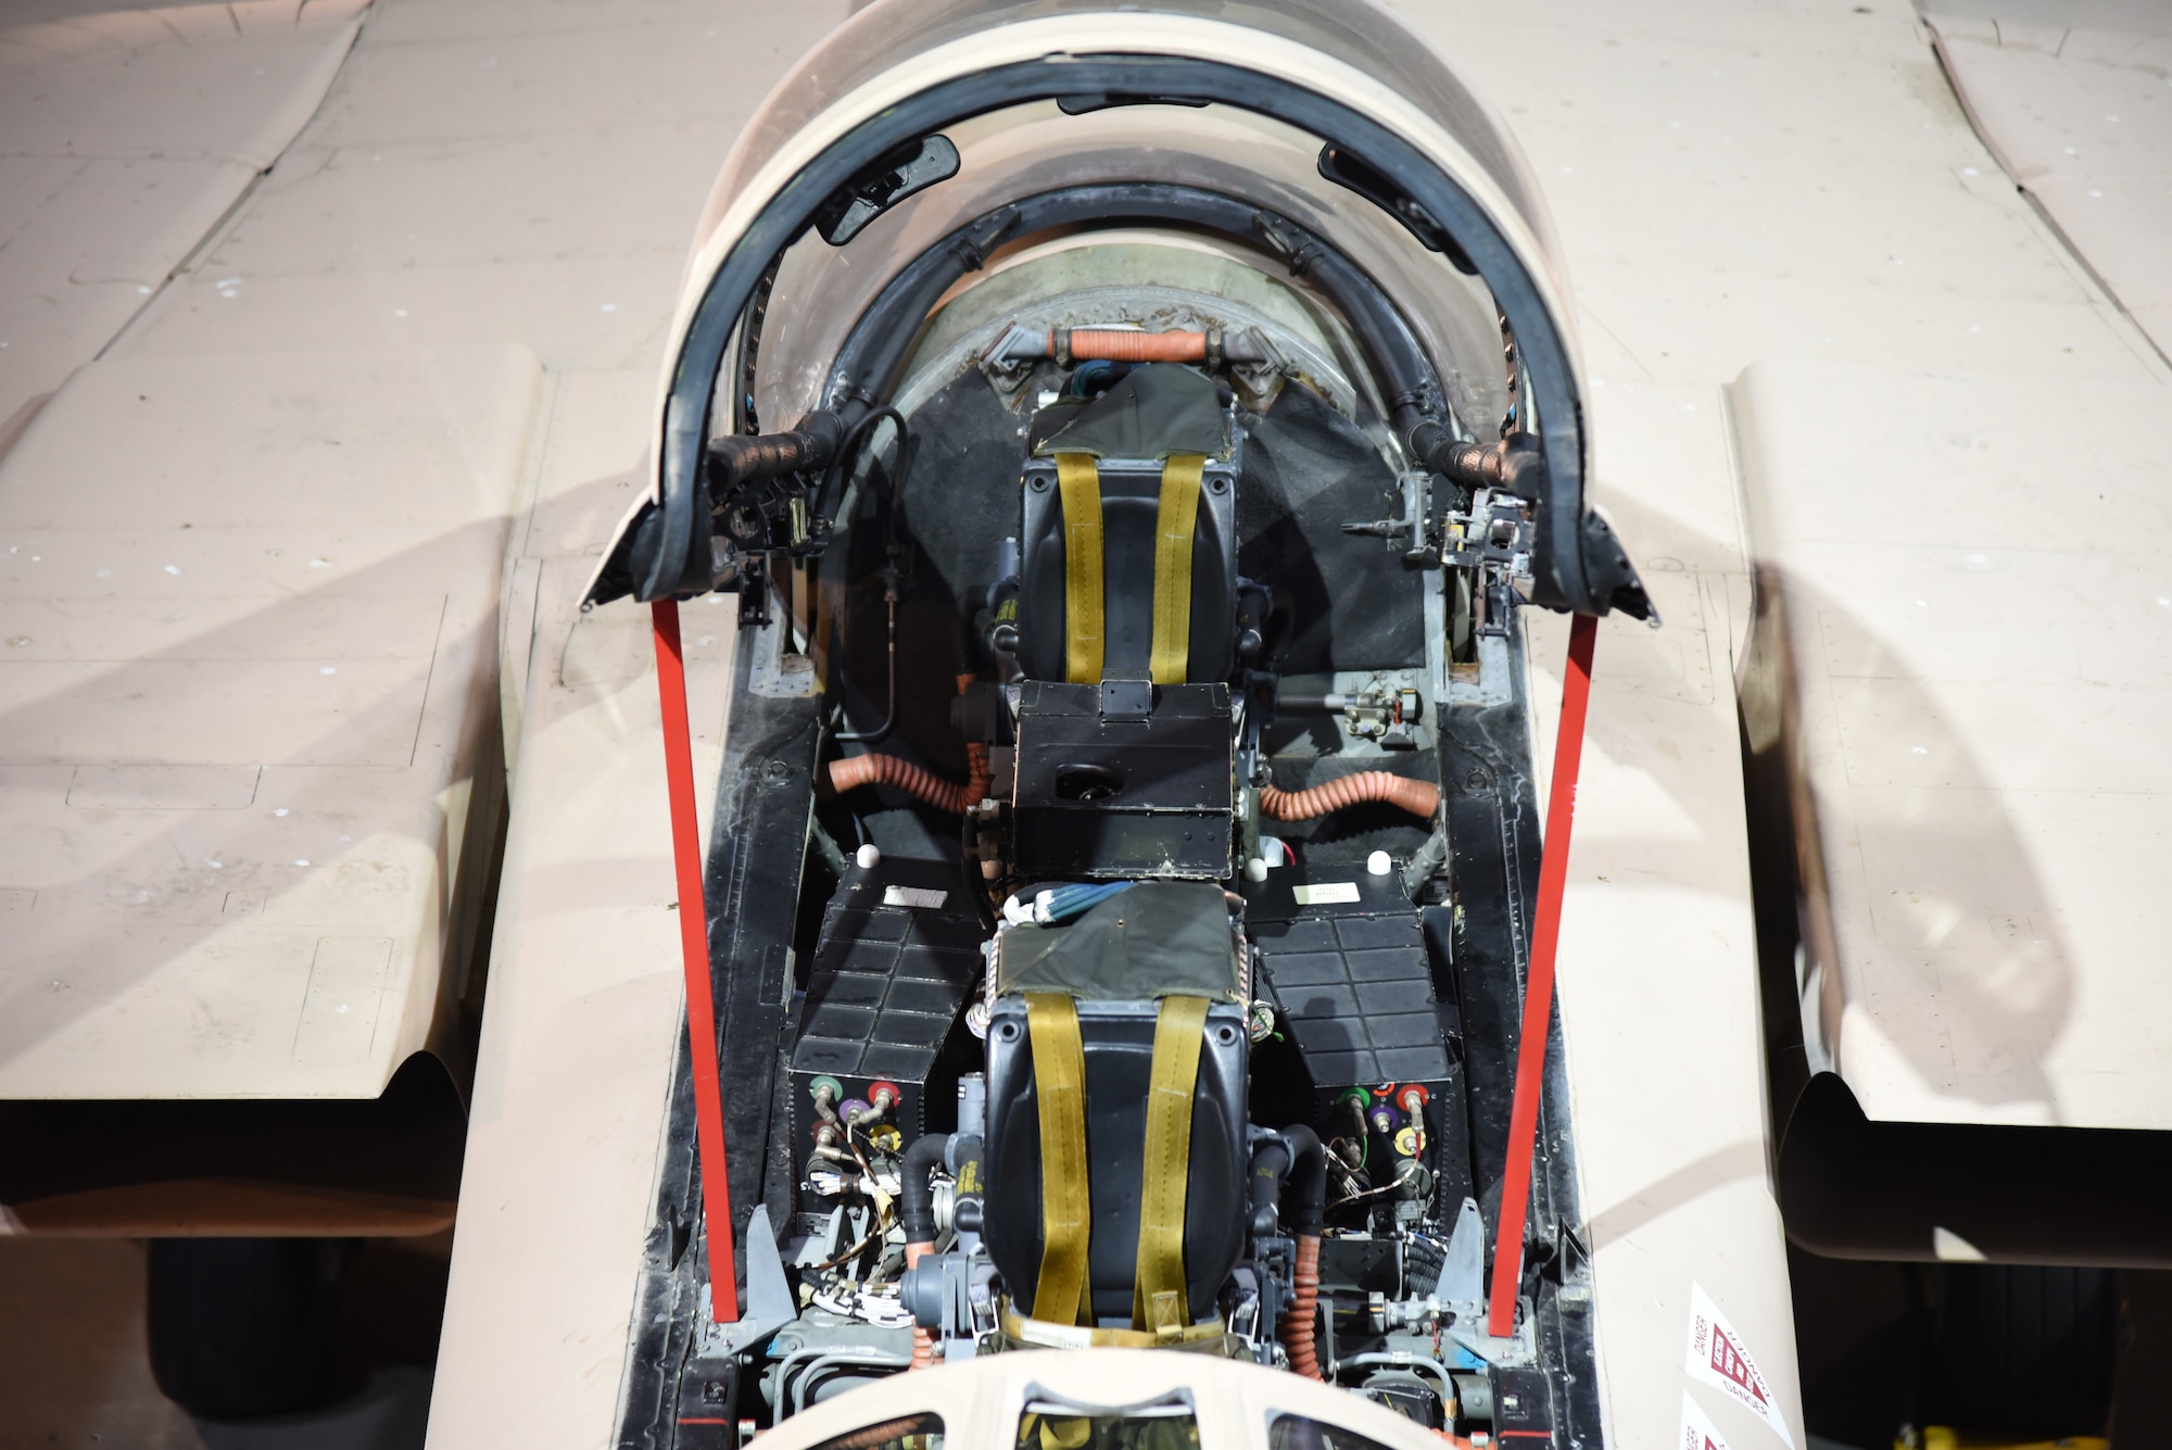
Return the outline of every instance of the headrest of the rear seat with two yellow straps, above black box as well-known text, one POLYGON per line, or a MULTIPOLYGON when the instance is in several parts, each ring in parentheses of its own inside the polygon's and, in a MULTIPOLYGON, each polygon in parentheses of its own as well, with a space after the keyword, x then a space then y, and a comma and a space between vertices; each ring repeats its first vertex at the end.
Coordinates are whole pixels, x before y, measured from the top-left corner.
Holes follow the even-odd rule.
POLYGON ((1027 679, 1227 679, 1236 438, 1225 391, 1175 362, 1034 417, 1019 560, 1027 679))

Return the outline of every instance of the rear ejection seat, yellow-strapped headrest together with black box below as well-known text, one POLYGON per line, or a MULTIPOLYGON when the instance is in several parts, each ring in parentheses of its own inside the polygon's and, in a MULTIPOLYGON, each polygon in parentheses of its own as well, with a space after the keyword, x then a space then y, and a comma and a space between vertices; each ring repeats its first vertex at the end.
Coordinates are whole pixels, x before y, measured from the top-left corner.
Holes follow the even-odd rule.
POLYGON ((1238 436, 1179 365, 1034 415, 1019 510, 1014 870, 1229 875, 1238 436))

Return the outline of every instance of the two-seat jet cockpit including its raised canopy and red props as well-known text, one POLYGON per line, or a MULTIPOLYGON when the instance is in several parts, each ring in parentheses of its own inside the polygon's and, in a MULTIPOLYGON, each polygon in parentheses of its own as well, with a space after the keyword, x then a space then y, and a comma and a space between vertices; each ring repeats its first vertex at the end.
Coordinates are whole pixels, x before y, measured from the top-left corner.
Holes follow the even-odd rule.
POLYGON ((875 4, 669 354, 591 603, 738 653, 621 1437, 1129 1348, 1599 1443, 1557 1083, 1483 1322, 1520 612, 1651 608, 1499 117, 1368 7, 875 4))

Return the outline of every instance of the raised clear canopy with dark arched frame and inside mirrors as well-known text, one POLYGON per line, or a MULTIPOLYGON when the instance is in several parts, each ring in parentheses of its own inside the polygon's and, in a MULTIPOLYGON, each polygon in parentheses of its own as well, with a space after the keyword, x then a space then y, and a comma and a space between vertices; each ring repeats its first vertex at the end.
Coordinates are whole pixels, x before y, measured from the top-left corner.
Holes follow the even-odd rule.
POLYGON ((1336 278, 1362 287, 1377 306, 1342 310, 1392 365, 1384 417, 1423 410, 1486 441, 1520 408, 1544 451, 1536 597, 1644 612, 1583 504, 1577 339, 1529 167, 1442 56, 1353 0, 880 0, 838 28, 708 198, 652 495, 591 597, 710 588, 708 441, 888 404, 934 304, 999 247, 1171 224, 1334 304, 1336 278), (767 304, 758 365, 732 349, 749 302, 767 304))

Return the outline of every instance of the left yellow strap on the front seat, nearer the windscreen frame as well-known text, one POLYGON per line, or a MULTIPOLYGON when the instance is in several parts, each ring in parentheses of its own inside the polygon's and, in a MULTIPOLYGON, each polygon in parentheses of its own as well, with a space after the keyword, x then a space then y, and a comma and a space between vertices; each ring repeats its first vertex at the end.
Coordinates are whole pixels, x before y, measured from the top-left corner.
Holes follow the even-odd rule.
POLYGON ((1062 992, 1025 994, 1034 1044, 1034 1096, 1040 1107, 1040 1283, 1034 1318, 1093 1324, 1086 1244, 1093 1200, 1086 1190, 1086 1046, 1077 1003, 1062 992))

